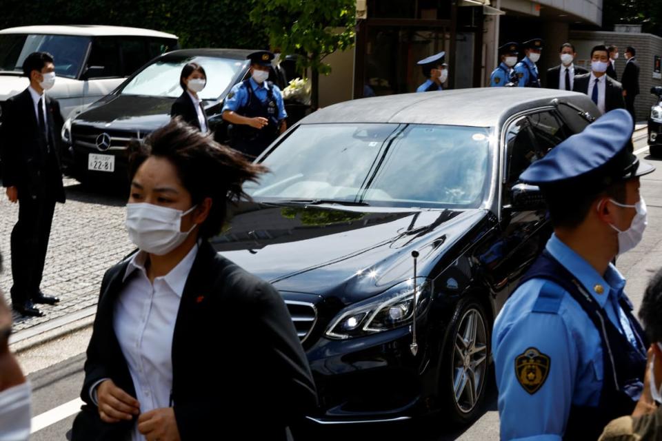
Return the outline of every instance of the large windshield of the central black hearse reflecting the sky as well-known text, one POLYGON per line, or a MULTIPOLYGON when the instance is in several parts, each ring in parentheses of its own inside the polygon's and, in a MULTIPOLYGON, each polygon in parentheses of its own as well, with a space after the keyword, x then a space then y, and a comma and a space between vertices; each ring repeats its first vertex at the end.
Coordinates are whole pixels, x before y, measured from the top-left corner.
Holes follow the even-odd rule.
POLYGON ((257 201, 386 207, 479 207, 488 189, 490 129, 423 124, 300 125, 245 185, 257 201))

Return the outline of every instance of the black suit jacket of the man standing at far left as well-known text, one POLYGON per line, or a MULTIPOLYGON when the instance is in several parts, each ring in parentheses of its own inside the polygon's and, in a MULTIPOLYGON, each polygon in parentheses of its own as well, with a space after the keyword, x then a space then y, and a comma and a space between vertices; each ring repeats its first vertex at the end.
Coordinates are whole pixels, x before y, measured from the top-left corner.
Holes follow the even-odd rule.
POLYGON ((30 91, 23 90, 2 105, 2 182, 5 187, 17 187, 19 198, 37 198, 48 189, 53 192, 56 201, 64 202, 59 158, 59 139, 64 121, 57 101, 45 96, 45 122, 52 156, 49 156, 46 148, 46 136, 39 130, 30 91))

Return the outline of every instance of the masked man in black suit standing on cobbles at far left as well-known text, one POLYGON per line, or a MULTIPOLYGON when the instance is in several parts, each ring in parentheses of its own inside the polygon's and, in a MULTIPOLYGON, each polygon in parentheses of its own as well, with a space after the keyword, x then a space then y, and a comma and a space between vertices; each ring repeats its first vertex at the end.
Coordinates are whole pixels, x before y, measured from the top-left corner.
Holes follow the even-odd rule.
POLYGON ((11 237, 12 307, 39 317, 35 303, 59 302, 44 296, 39 285, 55 203, 65 200, 57 151, 63 121, 57 101, 44 94, 55 82, 53 57, 33 52, 23 61, 23 74, 30 86, 3 105, 0 154, 7 197, 19 203, 11 237))

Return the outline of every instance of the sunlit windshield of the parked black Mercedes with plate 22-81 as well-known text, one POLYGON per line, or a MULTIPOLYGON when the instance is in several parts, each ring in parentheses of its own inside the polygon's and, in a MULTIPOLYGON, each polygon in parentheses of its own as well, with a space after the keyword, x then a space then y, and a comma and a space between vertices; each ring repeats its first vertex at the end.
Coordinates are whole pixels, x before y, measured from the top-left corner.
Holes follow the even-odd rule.
POLYGON ((207 74, 207 84, 198 96, 203 100, 216 100, 234 84, 234 78, 248 61, 217 57, 159 59, 134 76, 121 94, 177 98, 182 92, 179 76, 186 63, 198 63, 207 74))

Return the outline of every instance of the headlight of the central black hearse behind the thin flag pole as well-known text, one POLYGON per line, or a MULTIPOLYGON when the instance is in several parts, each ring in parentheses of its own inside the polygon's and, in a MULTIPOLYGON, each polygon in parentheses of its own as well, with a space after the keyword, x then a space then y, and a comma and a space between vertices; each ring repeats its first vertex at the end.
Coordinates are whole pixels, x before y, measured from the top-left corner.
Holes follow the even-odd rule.
MULTIPOLYGON (((417 314, 423 314, 432 298, 432 282, 417 278, 417 314)), ((367 336, 409 325, 414 317, 414 280, 343 309, 326 331, 330 338, 367 336)))

